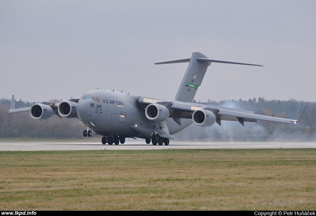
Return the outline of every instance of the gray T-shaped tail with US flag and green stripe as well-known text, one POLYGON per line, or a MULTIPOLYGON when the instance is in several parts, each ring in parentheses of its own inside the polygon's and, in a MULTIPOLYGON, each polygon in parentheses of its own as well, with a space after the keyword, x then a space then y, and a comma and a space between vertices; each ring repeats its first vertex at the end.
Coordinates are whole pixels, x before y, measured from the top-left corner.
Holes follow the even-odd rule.
POLYGON ((200 52, 193 52, 191 58, 168 61, 168 62, 160 62, 160 63, 155 63, 155 64, 172 64, 172 63, 184 63, 184 62, 189 62, 189 65, 185 71, 185 75, 181 81, 178 92, 174 98, 174 100, 182 101, 182 102, 193 101, 195 94, 197 92, 197 89, 201 86, 207 67, 210 66, 212 62, 263 66, 263 65, 258 65, 258 64, 246 64, 246 63, 227 62, 227 61, 209 59, 208 57, 206 57, 204 54, 200 52))

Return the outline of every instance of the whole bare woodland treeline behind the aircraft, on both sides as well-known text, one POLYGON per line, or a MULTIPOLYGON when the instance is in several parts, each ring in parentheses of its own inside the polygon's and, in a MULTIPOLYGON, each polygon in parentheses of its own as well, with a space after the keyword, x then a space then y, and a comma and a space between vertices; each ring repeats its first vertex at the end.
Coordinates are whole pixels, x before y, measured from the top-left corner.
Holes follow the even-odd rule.
MULTIPOLYGON (((58 102, 58 100, 53 100, 58 102)), ((197 102, 197 101, 194 101, 197 102)), ((26 101, 15 101, 15 108, 33 105, 26 101)), ((238 109, 255 111, 256 114, 297 119, 305 105, 307 111, 303 122, 293 124, 258 121, 258 123, 222 121, 202 128, 194 124, 187 129, 173 135, 176 140, 183 141, 316 141, 316 103, 290 100, 266 100, 263 97, 249 100, 222 100, 200 102, 203 104, 221 105, 238 109)), ((30 117, 29 112, 8 114, 11 104, 9 99, 0 99, 0 136, 5 135, 73 135, 81 136, 85 129, 75 119, 59 119, 56 115, 49 121, 36 121, 30 117)), ((87 138, 88 139, 88 138, 87 138)))

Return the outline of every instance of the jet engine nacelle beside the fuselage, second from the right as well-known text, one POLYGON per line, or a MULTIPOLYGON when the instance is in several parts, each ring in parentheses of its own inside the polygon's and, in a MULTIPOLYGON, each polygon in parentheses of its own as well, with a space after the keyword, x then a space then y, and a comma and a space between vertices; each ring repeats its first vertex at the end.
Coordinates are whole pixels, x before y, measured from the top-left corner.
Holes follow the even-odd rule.
POLYGON ((169 117, 169 109, 161 104, 149 104, 145 114, 149 120, 161 122, 169 117))

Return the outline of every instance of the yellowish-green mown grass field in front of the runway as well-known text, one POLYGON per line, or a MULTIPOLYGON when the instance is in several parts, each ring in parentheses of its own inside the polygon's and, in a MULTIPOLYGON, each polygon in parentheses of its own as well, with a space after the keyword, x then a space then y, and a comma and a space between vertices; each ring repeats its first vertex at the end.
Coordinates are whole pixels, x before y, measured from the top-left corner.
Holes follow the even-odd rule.
POLYGON ((316 149, 0 152, 0 210, 315 210, 316 149))

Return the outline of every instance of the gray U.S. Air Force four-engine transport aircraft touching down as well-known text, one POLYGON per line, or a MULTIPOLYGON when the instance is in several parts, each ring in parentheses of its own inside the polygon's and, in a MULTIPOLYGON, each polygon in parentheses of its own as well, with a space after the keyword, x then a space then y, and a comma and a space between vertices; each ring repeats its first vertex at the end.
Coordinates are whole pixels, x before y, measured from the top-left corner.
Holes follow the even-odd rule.
POLYGON ((252 111, 233 109, 217 105, 192 103, 197 89, 201 86, 207 67, 213 63, 228 63, 262 66, 237 62, 212 60, 200 52, 193 52, 191 58, 155 64, 188 62, 188 68, 173 100, 158 100, 130 93, 92 90, 80 99, 69 99, 60 103, 40 102, 31 107, 15 109, 14 95, 8 111, 29 111, 33 119, 45 121, 55 114, 59 118, 78 118, 80 124, 87 127, 83 136, 101 135, 102 144, 118 145, 125 138, 144 138, 153 145, 169 145, 173 134, 188 127, 192 122, 200 127, 210 127, 221 121, 257 122, 257 120, 296 123, 297 120, 254 114, 252 111))

